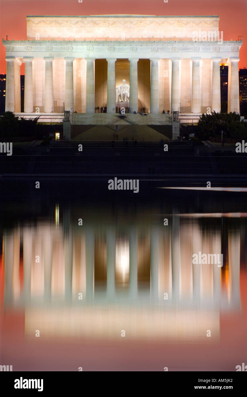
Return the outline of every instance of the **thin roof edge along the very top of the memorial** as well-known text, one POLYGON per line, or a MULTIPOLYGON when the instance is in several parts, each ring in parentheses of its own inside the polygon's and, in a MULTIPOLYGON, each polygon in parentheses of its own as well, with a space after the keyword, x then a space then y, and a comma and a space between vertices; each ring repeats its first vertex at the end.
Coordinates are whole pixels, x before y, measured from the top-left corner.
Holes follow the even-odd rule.
POLYGON ((219 17, 218 15, 143 15, 143 14, 111 14, 111 15, 27 15, 27 17, 48 17, 48 18, 88 18, 88 17, 153 17, 153 18, 212 18, 212 17, 219 17))

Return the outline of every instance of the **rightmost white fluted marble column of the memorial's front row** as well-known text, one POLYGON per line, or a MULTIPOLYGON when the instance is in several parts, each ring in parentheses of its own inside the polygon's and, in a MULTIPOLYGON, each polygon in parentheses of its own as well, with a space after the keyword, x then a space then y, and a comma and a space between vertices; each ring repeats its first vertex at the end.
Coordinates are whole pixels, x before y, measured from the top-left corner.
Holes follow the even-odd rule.
POLYGON ((239 113, 239 58, 228 59, 228 113, 239 113))

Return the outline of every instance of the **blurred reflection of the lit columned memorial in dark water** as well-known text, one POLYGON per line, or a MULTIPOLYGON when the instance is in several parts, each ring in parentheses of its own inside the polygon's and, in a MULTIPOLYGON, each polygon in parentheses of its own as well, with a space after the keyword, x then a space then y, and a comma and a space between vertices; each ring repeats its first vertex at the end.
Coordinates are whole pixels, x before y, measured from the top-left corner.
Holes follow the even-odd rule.
POLYGON ((162 228, 79 228, 64 211, 63 225, 38 222, 4 231, 5 304, 25 305, 27 333, 36 324, 43 334, 96 335, 103 328, 109 336, 128 326, 132 336, 200 338, 204 329, 219 335, 220 310, 240 306, 239 229, 228 235, 226 268, 195 265, 191 253, 221 252, 220 223, 202 232, 199 220, 185 223, 173 214, 162 228))

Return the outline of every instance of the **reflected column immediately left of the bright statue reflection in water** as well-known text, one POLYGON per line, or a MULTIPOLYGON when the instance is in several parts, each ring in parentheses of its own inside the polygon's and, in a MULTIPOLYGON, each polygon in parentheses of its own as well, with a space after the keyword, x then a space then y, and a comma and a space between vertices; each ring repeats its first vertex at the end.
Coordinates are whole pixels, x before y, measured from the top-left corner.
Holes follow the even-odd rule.
POLYGON ((107 229, 106 233, 106 258, 107 258, 107 295, 115 293, 115 252, 116 235, 115 230, 107 229))

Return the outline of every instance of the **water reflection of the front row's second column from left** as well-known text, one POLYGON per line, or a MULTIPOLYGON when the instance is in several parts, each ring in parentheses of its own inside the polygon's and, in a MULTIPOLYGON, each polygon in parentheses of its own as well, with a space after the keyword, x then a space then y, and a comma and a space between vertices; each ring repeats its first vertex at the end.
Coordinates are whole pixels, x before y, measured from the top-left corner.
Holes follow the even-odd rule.
POLYGON ((31 268, 33 260, 33 233, 29 227, 23 229, 23 293, 25 300, 31 295, 31 268))

